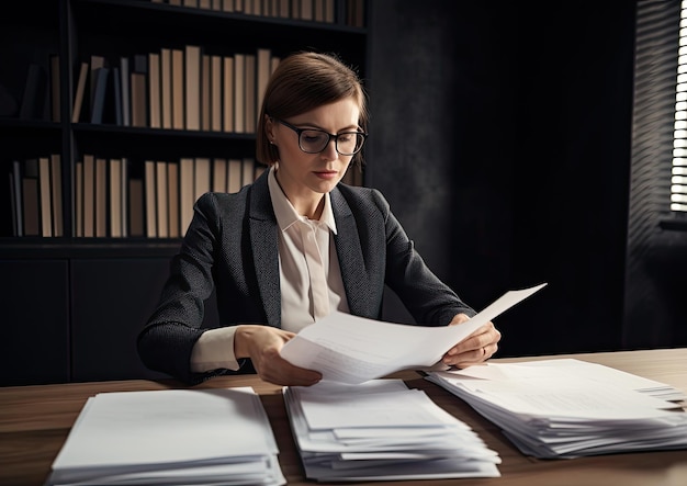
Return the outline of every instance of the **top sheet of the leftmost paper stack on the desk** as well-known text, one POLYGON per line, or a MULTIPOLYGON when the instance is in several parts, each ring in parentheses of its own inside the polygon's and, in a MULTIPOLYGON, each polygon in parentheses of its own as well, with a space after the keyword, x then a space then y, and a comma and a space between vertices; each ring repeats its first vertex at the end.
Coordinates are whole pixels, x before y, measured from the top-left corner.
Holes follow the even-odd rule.
POLYGON ((275 443, 262 429, 263 422, 255 418, 252 395, 244 388, 97 395, 54 467, 63 463, 117 465, 124 460, 133 465, 165 464, 273 453, 275 443), (198 414, 199 409, 203 414, 198 414), (169 427, 170 418, 174 427, 169 427), (245 437, 240 447, 237 437, 245 437), (93 443, 99 447, 92 448, 93 443))

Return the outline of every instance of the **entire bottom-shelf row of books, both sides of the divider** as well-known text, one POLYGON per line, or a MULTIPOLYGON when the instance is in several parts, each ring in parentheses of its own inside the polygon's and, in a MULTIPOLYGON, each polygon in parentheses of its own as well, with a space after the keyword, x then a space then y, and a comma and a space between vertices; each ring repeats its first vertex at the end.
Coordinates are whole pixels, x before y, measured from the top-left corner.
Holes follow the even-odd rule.
MULTIPOLYGON (((74 236, 179 238, 203 193, 237 192, 264 170, 255 159, 185 157, 178 161, 85 155, 75 166, 74 236)), ((14 160, 10 172, 13 236, 65 236, 59 155, 14 160)))

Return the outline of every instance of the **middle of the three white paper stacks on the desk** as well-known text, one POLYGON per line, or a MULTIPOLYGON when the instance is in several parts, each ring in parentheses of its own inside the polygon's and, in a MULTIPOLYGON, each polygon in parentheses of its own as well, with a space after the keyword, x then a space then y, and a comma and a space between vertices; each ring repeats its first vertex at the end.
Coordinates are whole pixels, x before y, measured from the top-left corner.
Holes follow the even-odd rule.
POLYGON ((319 482, 498 477, 498 454, 401 380, 285 387, 306 477, 319 482))

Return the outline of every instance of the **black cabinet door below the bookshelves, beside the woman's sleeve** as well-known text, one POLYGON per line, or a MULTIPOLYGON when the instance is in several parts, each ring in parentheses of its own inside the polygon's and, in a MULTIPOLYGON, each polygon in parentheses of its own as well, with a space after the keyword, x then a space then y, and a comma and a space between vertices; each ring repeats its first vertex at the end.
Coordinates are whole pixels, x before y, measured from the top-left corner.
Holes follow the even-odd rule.
MULTIPOLYGON (((71 273, 71 380, 169 377, 146 369, 136 337, 155 309, 169 258, 75 259, 71 273)), ((214 295, 206 327, 216 327, 214 295)))

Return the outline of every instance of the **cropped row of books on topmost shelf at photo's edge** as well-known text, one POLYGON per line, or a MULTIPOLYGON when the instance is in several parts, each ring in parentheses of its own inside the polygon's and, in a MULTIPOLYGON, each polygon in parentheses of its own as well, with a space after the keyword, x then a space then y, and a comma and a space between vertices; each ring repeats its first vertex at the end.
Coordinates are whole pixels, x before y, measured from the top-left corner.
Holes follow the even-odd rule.
POLYGON ((347 25, 364 26, 364 0, 151 0, 154 3, 218 12, 334 23, 338 2, 346 2, 347 25))

